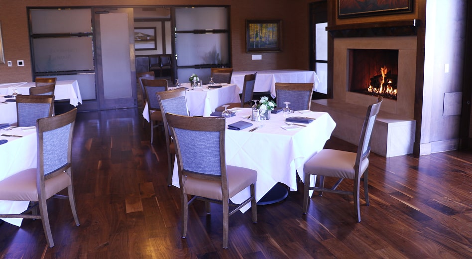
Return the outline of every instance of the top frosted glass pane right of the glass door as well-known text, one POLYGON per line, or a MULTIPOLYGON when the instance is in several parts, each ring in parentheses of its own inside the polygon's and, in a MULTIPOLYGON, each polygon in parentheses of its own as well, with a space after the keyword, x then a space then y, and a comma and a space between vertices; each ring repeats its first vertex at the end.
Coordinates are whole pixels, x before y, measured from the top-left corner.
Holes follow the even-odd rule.
POLYGON ((182 30, 228 29, 228 8, 198 7, 176 8, 175 28, 182 30))

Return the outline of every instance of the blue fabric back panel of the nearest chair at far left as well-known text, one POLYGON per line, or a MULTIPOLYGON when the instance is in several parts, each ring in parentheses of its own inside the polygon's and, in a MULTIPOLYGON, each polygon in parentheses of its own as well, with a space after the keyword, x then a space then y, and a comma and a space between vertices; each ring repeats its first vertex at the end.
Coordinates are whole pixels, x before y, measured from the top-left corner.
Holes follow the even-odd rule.
POLYGON ((67 164, 72 123, 58 129, 43 132, 44 175, 67 164))

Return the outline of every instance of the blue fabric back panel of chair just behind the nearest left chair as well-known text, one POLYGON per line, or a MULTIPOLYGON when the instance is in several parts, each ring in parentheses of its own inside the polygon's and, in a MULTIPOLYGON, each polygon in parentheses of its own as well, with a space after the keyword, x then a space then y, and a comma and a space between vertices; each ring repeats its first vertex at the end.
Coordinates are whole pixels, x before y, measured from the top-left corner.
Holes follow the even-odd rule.
POLYGON ((49 117, 51 105, 45 103, 18 103, 18 126, 36 126, 36 120, 49 117))

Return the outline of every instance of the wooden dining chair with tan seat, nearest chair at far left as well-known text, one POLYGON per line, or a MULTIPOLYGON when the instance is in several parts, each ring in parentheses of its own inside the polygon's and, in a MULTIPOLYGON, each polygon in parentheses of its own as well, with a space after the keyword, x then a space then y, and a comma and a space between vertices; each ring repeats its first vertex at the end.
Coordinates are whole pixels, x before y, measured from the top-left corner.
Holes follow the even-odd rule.
MULTIPOLYGON (((0 218, 41 219, 46 241, 54 247, 47 210, 49 198, 68 199, 75 224, 80 225, 74 198, 71 150, 77 109, 54 117, 38 119, 37 167, 0 181, 0 200, 29 201, 32 206, 21 214, 0 214, 0 218), (57 193, 67 188, 67 195, 57 193), (37 208, 39 207, 39 214, 37 208), (31 213, 31 214, 30 214, 31 213)), ((60 221, 58 221, 60 222, 60 221)))

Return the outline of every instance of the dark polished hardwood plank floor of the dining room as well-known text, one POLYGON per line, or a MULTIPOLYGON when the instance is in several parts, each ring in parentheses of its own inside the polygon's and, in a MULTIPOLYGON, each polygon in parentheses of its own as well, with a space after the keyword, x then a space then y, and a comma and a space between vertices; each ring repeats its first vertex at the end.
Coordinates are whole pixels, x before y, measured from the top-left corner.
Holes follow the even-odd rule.
MULTIPOLYGON (((67 201, 50 200, 56 246, 47 247, 40 220, 24 220, 21 228, 3 223, 0 259, 472 258, 472 153, 458 151, 371 154, 370 206, 361 194, 361 223, 352 197, 330 193, 313 196, 302 215, 300 184, 285 201, 258 206, 256 224, 250 212, 230 217, 227 250, 216 204, 207 216, 196 202, 181 239, 179 191, 165 181, 163 132, 150 145, 140 113, 78 114, 73 175, 81 225, 75 226, 67 201)), ((336 138, 326 146, 355 151, 336 138)))

